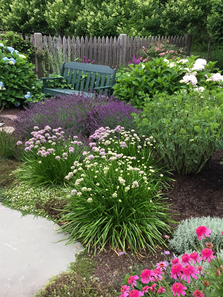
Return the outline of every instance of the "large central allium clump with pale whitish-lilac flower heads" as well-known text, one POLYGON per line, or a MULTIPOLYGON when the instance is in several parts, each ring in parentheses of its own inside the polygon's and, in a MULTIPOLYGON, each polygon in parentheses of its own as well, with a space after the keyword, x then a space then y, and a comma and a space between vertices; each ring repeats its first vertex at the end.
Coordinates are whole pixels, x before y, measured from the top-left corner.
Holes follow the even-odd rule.
POLYGON ((67 243, 81 241, 95 253, 105 244, 139 253, 165 245, 162 235, 172 220, 161 191, 168 178, 152 156, 153 137, 118 126, 99 128, 90 141, 84 160, 65 177, 67 223, 60 232, 69 233, 67 243))

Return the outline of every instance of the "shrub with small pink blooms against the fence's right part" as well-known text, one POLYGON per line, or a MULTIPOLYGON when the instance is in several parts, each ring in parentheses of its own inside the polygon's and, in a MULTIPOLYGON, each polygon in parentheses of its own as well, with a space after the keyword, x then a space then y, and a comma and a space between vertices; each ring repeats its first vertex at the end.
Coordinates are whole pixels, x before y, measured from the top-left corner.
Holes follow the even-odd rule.
POLYGON ((152 58, 160 58, 160 56, 167 59, 185 58, 186 52, 183 48, 178 48, 176 44, 170 44, 169 39, 163 42, 157 42, 153 44, 149 49, 144 46, 142 50, 139 50, 141 61, 147 62, 151 61, 152 58))

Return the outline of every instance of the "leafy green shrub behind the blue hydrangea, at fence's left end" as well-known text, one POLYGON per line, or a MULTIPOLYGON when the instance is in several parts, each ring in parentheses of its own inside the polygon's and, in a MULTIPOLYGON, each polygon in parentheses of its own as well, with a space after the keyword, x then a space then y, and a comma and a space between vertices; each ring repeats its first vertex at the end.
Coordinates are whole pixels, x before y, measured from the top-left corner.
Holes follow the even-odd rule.
POLYGON ((5 32, 1 34, 1 39, 6 41, 7 46, 12 46, 23 55, 26 55, 29 61, 35 58, 35 46, 21 38, 17 33, 13 31, 5 32))

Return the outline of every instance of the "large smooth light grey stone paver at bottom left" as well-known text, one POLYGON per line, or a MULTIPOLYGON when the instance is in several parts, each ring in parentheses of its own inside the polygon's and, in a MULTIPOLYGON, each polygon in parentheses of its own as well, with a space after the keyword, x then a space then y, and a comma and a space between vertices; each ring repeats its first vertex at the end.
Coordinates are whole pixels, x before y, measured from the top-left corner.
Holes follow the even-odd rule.
POLYGON ((80 243, 65 245, 53 221, 0 203, 0 296, 32 297, 52 275, 75 261, 80 243))

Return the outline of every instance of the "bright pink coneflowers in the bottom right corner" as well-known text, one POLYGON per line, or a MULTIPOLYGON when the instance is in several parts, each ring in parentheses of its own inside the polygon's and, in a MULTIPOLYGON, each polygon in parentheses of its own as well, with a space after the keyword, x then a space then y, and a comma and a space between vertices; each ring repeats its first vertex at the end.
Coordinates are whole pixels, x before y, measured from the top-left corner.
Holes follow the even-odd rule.
MULTIPOLYGON (((208 240, 207 237, 209 237, 212 231, 205 226, 199 226, 196 229, 196 233, 199 240, 203 238, 208 240)), ((207 244, 212 247, 211 242, 208 241, 207 244)), ((166 254, 164 255, 166 256, 166 254)), ((144 269, 140 276, 129 276, 127 280, 129 286, 122 286, 119 297, 223 296, 223 267, 221 258, 218 258, 215 251, 211 248, 204 248, 200 254, 195 252, 191 254, 185 253, 182 255, 181 261, 174 256, 171 263, 170 271, 166 270, 169 262, 160 261, 153 270, 144 269), (206 261, 210 263, 210 268, 204 271, 202 265, 206 261), (172 281, 167 281, 166 277, 170 277, 172 281)))

